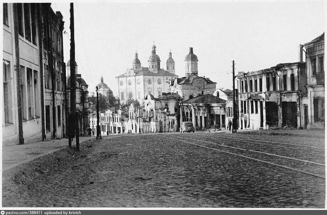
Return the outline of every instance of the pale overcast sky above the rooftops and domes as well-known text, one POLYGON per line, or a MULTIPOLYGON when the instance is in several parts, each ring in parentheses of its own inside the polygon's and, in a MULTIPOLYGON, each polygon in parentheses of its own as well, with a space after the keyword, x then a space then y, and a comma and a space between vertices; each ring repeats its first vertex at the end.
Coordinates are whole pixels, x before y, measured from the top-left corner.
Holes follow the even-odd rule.
MULTIPOLYGON (((70 58, 69 3, 55 1, 65 21, 64 61, 70 58)), ((78 73, 95 90, 104 82, 118 93, 116 76, 131 68, 137 50, 148 66, 153 41, 166 69, 171 49, 176 74, 184 76, 189 47, 198 56, 198 75, 232 88, 235 72, 297 62, 299 44, 324 32, 323 1, 302 2, 75 2, 78 73)))

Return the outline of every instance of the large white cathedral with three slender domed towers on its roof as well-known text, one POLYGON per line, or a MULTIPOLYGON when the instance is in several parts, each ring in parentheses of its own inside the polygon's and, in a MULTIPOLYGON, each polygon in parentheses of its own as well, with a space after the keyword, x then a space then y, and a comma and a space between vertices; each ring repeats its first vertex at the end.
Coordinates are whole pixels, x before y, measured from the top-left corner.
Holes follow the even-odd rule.
POLYGON ((163 92, 170 92, 170 80, 177 77, 171 52, 166 62, 167 70, 161 69, 160 58, 156 54, 156 46, 153 45, 148 65, 149 67, 141 66, 136 52, 132 68, 116 77, 121 104, 134 99, 138 100, 142 106, 146 95, 152 94, 154 97, 159 97, 163 92))

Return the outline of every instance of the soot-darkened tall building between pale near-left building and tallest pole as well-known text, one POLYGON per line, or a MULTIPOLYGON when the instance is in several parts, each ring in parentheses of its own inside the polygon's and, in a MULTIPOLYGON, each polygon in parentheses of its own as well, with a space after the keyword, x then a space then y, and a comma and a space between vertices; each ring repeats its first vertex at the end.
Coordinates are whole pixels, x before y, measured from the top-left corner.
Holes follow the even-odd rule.
POLYGON ((46 139, 66 135, 66 81, 63 62, 63 17, 51 9, 51 3, 41 6, 42 65, 44 74, 44 114, 46 139))

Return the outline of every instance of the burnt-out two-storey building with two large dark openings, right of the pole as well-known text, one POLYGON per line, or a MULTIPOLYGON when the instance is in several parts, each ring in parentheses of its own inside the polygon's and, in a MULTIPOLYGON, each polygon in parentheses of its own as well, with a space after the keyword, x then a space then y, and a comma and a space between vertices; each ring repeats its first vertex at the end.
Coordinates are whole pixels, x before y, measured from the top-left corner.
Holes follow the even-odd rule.
POLYGON ((301 127, 300 96, 305 85, 303 62, 239 72, 239 129, 301 127))

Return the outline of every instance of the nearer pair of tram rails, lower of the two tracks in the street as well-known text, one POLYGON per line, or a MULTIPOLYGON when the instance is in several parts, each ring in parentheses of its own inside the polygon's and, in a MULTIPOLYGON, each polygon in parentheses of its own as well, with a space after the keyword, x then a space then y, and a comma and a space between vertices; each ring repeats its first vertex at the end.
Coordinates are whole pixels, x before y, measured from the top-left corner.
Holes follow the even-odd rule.
MULTIPOLYGON (((316 177, 325 179, 325 176, 323 176, 323 175, 307 172, 307 171, 304 171, 304 170, 301 170, 301 169, 296 169, 296 168, 293 168, 293 167, 284 166, 284 165, 276 164, 276 163, 273 163, 273 162, 264 161, 264 160, 261 160, 261 159, 257 159, 257 158, 253 158, 253 157, 233 153, 233 152, 228 152, 228 151, 224 151, 224 150, 220 150, 220 149, 216 149, 216 148, 202 146, 200 144, 192 143, 192 142, 189 142, 189 141, 186 141, 186 140, 183 140, 183 139, 179 139, 179 138, 187 138, 187 139, 191 139, 191 140, 195 140, 195 141, 200 141, 200 142, 202 141, 202 142, 207 142, 207 143, 214 144, 214 145, 219 145, 219 144, 212 143, 212 142, 209 142, 209 141, 198 140, 198 139, 193 139, 193 138, 188 138, 188 137, 181 137, 181 136, 176 136, 176 135, 169 135, 169 136, 167 134, 164 134, 164 135, 155 134, 155 135, 161 136, 161 137, 164 136, 165 138, 185 142, 185 143, 192 144, 192 145, 195 145, 195 146, 198 146, 198 147, 203 147, 203 148, 207 148, 207 149, 211 149, 211 150, 215 150, 215 151, 219 151, 219 152, 223 152, 223 153, 227 153, 227 154, 232 154, 232 155, 235 155, 235 156, 239 156, 239 157, 243 157, 243 158, 247 158, 247 159, 267 163, 267 164, 274 165, 274 166, 283 167, 283 168, 286 168, 286 169, 294 170, 294 171, 297 171, 297 172, 301 172, 301 173, 304 173, 304 174, 308 174, 308 175, 312 175, 312 176, 316 176, 316 177), (172 138, 171 136, 179 137, 179 138, 172 138)), ((212 135, 209 135, 209 136, 212 136, 212 135)), ((219 146, 230 147, 230 146, 224 146, 224 145, 219 145, 219 146)), ((248 149, 237 148, 237 147, 231 147, 231 148, 241 149, 241 150, 246 150, 246 151, 252 151, 252 152, 259 152, 259 151, 248 150, 248 149)), ((320 163, 311 162, 311 161, 305 161, 305 160, 301 160, 301 159, 297 159, 297 158, 291 158, 291 157, 286 157, 286 156, 281 156, 281 155, 275 155, 275 154, 270 154, 270 153, 266 153, 266 152, 263 152, 263 153, 264 154, 269 154, 269 155, 272 155, 272 156, 283 157, 283 158, 287 158, 287 159, 293 159, 293 160, 297 160, 297 161, 301 161, 301 162, 305 162, 305 163, 312 163, 312 164, 316 164, 316 165, 320 165, 320 166, 325 166, 325 164, 320 164, 320 163)))

